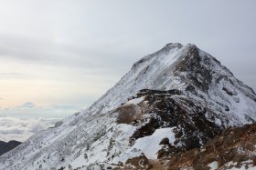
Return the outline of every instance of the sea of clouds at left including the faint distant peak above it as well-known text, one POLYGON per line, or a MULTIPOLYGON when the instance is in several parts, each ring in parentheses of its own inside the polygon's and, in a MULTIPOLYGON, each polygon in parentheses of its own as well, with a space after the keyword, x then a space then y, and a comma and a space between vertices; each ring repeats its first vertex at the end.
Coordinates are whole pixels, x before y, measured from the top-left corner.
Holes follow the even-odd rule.
POLYGON ((53 127, 75 110, 79 109, 72 105, 37 106, 32 102, 0 107, 0 141, 25 142, 31 135, 53 127))

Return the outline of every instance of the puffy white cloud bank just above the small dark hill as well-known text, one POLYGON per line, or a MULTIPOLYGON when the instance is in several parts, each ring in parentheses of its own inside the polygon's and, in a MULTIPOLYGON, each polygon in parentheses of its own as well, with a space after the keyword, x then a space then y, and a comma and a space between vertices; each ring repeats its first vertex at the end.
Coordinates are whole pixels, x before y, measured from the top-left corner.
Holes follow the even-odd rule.
POLYGON ((0 116, 0 140, 24 142, 35 133, 52 127, 60 119, 56 118, 17 118, 0 116))

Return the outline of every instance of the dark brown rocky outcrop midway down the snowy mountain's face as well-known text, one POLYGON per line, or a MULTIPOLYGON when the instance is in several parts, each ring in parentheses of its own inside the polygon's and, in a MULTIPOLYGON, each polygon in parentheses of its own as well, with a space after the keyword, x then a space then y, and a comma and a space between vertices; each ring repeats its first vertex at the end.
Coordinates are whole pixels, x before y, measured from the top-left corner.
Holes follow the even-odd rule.
POLYGON ((177 90, 146 89, 142 90, 138 96, 144 96, 144 101, 141 104, 123 105, 118 108, 120 113, 120 116, 117 117, 118 123, 139 125, 130 138, 132 145, 136 139, 152 135, 155 129, 176 126, 174 145, 178 146, 168 145, 165 148, 165 153, 161 152, 161 155, 164 156, 173 152, 199 148, 205 145, 209 139, 219 135, 223 129, 215 124, 214 113, 210 113, 208 108, 202 108, 194 104, 193 101, 183 98, 181 92, 177 90), (187 110, 187 106, 191 109, 187 110), (126 115, 129 115, 127 117, 123 116, 125 110, 126 115), (213 121, 209 120, 206 114, 212 115, 213 121))

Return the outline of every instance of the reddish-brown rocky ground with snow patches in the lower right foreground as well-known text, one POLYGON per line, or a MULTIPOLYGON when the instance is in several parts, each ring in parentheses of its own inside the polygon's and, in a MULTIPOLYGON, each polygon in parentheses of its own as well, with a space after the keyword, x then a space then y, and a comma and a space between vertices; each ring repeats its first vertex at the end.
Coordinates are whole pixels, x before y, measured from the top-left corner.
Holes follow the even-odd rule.
POLYGON ((218 170, 256 166, 256 124, 230 127, 202 148, 177 150, 158 160, 148 160, 144 155, 135 157, 118 169, 209 170, 208 165, 213 162, 218 165, 218 170))

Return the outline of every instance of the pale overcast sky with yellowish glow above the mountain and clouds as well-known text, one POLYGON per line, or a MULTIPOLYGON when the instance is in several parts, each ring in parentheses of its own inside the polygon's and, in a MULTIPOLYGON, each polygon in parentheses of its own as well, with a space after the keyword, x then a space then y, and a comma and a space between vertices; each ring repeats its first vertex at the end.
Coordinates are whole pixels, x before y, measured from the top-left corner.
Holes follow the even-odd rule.
POLYGON ((0 0, 0 115, 90 106, 167 43, 196 44, 256 89, 253 0, 0 0), (24 110, 24 104, 32 106, 24 110))

